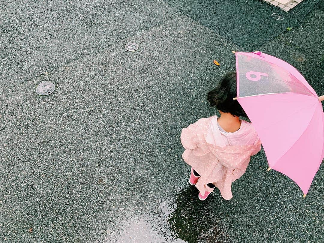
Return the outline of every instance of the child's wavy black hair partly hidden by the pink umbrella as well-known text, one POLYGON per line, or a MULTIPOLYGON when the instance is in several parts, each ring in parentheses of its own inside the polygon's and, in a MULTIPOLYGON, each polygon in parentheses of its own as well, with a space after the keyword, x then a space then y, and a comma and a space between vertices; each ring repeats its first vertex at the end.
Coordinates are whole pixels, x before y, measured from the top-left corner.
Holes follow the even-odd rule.
POLYGON ((236 73, 230 72, 222 77, 215 89, 208 92, 207 100, 212 107, 217 107, 222 112, 246 117, 238 101, 233 100, 236 95, 236 73))

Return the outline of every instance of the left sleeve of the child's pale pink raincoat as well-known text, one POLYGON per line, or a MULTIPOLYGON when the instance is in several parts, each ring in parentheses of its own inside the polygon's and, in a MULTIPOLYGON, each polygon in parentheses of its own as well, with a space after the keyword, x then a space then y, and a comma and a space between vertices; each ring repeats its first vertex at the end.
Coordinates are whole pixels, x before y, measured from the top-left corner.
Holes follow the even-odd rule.
POLYGON ((185 149, 195 149, 198 146, 197 129, 200 129, 203 119, 183 128, 180 136, 181 144, 185 149))

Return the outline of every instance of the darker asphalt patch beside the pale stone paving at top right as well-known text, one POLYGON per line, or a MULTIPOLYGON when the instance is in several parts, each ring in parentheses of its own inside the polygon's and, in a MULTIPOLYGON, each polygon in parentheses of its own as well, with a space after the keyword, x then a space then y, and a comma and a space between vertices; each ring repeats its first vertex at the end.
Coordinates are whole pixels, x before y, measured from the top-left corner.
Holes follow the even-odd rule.
POLYGON ((285 13, 275 6, 256 0, 165 1, 248 51, 254 51, 257 46, 272 40, 288 26, 298 26, 314 7, 321 4, 320 0, 307 0, 285 13), (273 19, 273 13, 283 15, 284 20, 273 19))

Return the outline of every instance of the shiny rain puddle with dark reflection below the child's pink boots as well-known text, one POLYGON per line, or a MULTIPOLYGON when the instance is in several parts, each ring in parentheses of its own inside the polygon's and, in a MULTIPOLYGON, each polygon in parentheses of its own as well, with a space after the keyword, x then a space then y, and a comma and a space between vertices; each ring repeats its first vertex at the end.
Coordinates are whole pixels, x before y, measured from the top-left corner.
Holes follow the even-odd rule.
POLYGON ((175 199, 161 199, 152 212, 123 222, 114 242, 225 242, 218 226, 217 203, 202 202, 197 196, 198 191, 190 187, 175 199))

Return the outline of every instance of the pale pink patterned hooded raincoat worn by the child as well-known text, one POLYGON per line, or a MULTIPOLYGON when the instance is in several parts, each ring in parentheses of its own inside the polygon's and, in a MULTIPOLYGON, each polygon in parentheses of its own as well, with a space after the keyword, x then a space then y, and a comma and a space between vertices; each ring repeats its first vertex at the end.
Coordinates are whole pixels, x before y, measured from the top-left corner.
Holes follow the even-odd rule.
POLYGON ((244 174, 250 156, 260 151, 261 142, 251 123, 241 120, 239 130, 226 133, 219 130, 217 118, 202 118, 182 129, 182 157, 201 175, 196 187, 203 195, 213 191, 207 186, 213 183, 229 200, 233 197, 232 182, 244 174))

